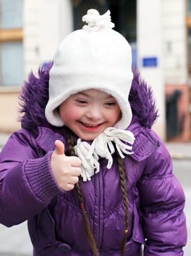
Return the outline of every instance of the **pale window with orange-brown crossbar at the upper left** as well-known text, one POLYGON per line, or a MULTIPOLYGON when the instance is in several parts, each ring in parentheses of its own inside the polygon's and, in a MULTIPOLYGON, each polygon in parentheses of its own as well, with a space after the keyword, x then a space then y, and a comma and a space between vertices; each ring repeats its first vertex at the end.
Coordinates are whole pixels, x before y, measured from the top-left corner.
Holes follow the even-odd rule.
POLYGON ((0 86, 24 80, 22 0, 0 0, 0 86))

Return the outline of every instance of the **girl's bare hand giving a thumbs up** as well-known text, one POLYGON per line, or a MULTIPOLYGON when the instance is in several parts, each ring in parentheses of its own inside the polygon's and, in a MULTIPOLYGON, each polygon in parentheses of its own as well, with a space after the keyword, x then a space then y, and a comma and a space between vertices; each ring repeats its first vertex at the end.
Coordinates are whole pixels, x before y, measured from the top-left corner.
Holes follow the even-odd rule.
POLYGON ((50 159, 53 176, 62 190, 72 190, 81 174, 81 160, 77 156, 66 156, 64 144, 60 140, 55 141, 55 146, 50 159))

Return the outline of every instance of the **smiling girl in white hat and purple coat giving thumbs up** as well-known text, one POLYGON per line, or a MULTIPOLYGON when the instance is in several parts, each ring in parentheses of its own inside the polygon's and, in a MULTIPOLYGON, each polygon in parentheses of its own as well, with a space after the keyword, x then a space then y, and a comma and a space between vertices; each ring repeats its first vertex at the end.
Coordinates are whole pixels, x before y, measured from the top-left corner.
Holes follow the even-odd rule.
POLYGON ((151 129, 152 91, 110 12, 83 20, 22 89, 22 129, 0 154, 0 222, 28 220, 34 256, 181 256, 185 196, 151 129))

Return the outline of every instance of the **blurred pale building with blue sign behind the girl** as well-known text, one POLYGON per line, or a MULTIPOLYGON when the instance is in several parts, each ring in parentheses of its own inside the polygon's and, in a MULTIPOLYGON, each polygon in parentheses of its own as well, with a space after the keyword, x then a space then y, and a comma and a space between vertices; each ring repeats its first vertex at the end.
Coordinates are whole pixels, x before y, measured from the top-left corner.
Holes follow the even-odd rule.
POLYGON ((20 128, 18 95, 31 70, 52 60, 90 8, 111 11, 132 47, 132 68, 153 87, 163 140, 186 142, 191 113, 190 0, 0 0, 0 132, 20 128))

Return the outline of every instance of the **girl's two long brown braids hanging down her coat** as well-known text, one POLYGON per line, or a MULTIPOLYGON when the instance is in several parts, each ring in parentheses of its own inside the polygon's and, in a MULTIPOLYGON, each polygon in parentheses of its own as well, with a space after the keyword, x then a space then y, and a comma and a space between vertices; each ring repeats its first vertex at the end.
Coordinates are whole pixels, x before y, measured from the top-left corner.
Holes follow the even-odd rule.
MULTIPOLYGON (((71 130, 66 129, 67 131, 67 155, 74 156, 74 140, 73 135, 71 133, 71 130)), ((128 232, 128 216, 129 216, 129 209, 128 209, 128 201, 127 201, 127 181, 125 179, 125 171, 124 171, 124 163, 121 156, 117 153, 117 163, 118 163, 118 172, 120 175, 120 185, 122 188, 122 195, 124 199, 124 213, 125 213, 125 229, 124 229, 124 237, 122 239, 122 245, 121 245, 121 255, 125 255, 125 245, 126 245, 126 239, 127 239, 127 232, 128 232)), ((78 194, 78 200, 80 202, 81 207, 81 213, 83 217, 83 227, 85 230, 85 234, 87 236, 88 243, 90 247, 92 248, 92 251, 94 252, 95 256, 99 256, 99 251, 97 248, 97 245, 95 243, 94 235, 92 234, 92 230, 90 228, 90 224, 88 222, 87 214, 85 212, 84 206, 83 206, 83 194, 81 192, 81 186, 80 186, 80 177, 78 183, 76 183, 76 192, 78 194)))

